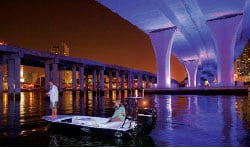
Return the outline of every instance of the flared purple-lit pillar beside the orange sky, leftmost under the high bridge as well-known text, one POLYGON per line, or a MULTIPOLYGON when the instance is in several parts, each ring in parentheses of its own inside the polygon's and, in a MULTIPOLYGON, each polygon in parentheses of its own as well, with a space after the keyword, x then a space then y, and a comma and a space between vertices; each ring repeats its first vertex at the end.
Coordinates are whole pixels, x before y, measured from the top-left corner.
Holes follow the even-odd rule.
POLYGON ((157 87, 170 88, 170 55, 176 28, 151 32, 149 37, 154 47, 157 61, 157 87))

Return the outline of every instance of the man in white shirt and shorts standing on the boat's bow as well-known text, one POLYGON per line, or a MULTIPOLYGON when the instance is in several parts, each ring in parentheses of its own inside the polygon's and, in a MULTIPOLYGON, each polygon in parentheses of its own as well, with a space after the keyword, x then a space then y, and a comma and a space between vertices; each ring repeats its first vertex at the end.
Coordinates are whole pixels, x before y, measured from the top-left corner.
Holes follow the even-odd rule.
POLYGON ((58 102, 58 88, 52 81, 49 82, 50 89, 46 94, 50 97, 50 108, 52 109, 52 118, 57 117, 57 102, 58 102))

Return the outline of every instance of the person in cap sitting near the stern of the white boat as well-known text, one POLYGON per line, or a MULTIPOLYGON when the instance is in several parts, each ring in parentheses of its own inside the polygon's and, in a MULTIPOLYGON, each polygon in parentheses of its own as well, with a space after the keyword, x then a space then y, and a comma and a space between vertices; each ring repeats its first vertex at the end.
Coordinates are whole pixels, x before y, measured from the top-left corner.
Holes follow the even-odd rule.
POLYGON ((121 100, 116 100, 115 106, 116 106, 115 112, 108 122, 124 121, 125 116, 126 116, 126 111, 125 111, 125 107, 121 103, 121 100))

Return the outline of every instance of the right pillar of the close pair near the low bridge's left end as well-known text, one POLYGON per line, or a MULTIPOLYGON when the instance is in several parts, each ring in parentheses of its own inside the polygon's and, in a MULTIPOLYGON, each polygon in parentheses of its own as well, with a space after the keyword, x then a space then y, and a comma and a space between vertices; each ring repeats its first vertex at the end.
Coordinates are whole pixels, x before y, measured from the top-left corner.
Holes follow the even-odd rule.
POLYGON ((21 66, 21 58, 15 57, 15 94, 21 93, 20 66, 21 66))

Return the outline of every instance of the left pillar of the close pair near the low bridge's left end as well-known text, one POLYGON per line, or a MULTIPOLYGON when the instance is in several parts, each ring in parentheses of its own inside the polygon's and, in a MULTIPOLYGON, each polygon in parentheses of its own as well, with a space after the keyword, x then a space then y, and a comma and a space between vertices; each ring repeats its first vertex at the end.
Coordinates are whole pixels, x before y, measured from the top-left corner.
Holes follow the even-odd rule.
POLYGON ((8 93, 14 93, 15 60, 8 59, 8 93))

